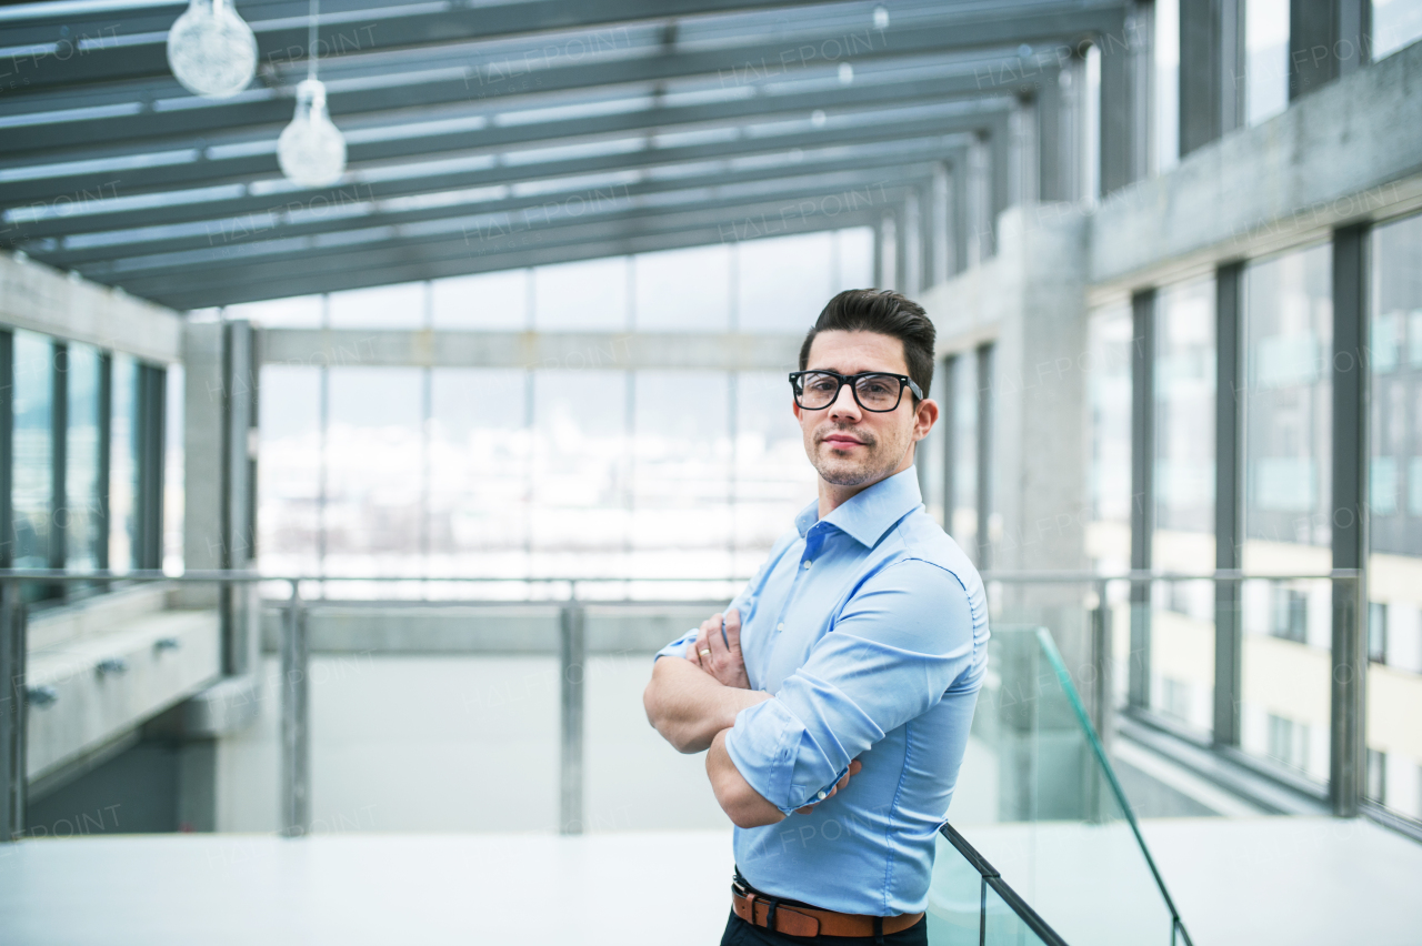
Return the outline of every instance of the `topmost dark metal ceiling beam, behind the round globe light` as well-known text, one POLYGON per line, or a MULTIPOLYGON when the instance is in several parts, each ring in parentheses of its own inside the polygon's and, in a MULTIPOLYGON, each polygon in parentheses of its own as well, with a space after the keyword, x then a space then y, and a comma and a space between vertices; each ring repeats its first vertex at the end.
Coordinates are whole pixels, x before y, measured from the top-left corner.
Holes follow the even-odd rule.
MULTIPOLYGON (((340 3, 321 7, 323 57, 404 47, 469 43, 550 30, 586 30, 636 21, 661 21, 715 13, 739 13, 823 4, 825 0, 525 0, 501 4, 340 3), (363 30, 361 27, 368 27, 363 30)), ((119 10, 109 14, 44 14, 43 23, 0 20, 7 47, 37 47, 21 57, 18 72, 27 89, 85 82, 168 78, 168 30, 186 3, 119 10), (51 48, 43 48, 51 47, 51 48)), ((242 3, 239 13, 257 37, 259 61, 280 57, 306 61, 310 6, 242 3)))

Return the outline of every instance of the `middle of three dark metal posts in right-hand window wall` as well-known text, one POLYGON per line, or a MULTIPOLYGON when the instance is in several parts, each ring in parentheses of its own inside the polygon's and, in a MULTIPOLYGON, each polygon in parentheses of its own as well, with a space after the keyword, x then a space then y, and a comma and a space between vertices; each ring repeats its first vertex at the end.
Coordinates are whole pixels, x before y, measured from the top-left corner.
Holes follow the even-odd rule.
MULTIPOLYGON (((1244 266, 1230 263, 1214 274, 1214 567, 1239 570, 1244 548, 1244 335, 1240 293, 1244 266)), ((1216 746, 1240 744, 1244 628, 1240 582, 1214 582, 1214 726, 1216 746)))

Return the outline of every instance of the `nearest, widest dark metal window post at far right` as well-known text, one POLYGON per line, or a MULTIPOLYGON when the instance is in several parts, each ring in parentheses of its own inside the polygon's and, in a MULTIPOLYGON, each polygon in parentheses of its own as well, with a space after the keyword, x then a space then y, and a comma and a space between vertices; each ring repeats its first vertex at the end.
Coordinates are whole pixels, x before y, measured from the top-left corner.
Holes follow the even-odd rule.
POLYGON ((1332 588, 1332 709, 1328 794, 1335 815, 1358 814, 1367 788, 1368 685, 1368 226, 1332 243, 1332 560, 1355 580, 1332 588))

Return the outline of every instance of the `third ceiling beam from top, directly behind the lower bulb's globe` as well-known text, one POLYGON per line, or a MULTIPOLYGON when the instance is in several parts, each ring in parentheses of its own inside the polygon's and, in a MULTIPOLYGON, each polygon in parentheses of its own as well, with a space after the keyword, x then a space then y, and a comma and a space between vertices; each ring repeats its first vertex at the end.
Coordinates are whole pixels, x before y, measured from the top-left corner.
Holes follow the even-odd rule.
MULTIPOLYGON (((1038 71, 1032 81, 1055 81, 1055 67, 1038 71)), ((873 77, 877 80, 879 77, 873 77)), ((637 111, 594 115, 589 118, 565 118, 520 125, 493 125, 464 131, 445 131, 429 135, 391 138, 385 141, 361 141, 348 145, 348 168, 378 161, 401 158, 434 158, 448 152, 483 151, 489 153, 547 143, 569 142, 577 138, 607 135, 656 134, 667 128, 704 125, 708 129, 717 124, 744 124, 762 116, 784 116, 793 114, 811 115, 823 111, 835 116, 840 111, 873 108, 884 105, 914 105, 939 102, 950 98, 974 95, 1028 92, 1031 84, 1017 72, 994 74, 988 81, 981 75, 963 72, 920 78, 916 72, 902 81, 870 81, 832 89, 811 92, 789 92, 755 95, 752 98, 708 102, 681 107, 653 107, 637 111), (1015 81, 1014 81, 1015 80, 1015 81)), ((233 156, 205 156, 181 165, 146 168, 74 170, 77 161, 102 161, 88 152, 53 155, 54 172, 24 180, 0 183, 0 206, 43 203, 64 199, 75 193, 135 195, 149 190, 172 190, 181 186, 216 186, 270 178, 277 172, 274 141, 266 153, 233 156)), ((121 165, 124 162, 119 162, 121 165)))

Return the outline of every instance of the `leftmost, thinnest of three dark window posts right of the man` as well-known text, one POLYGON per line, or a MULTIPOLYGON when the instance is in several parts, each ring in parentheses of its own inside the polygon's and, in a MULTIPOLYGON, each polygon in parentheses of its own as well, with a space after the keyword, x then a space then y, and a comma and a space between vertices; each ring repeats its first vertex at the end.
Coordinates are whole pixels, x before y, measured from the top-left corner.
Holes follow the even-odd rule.
MULTIPOLYGON (((1155 535, 1155 290, 1130 298, 1130 568, 1150 570, 1155 535)), ((1130 706, 1150 706, 1150 582, 1130 582, 1130 706)))

